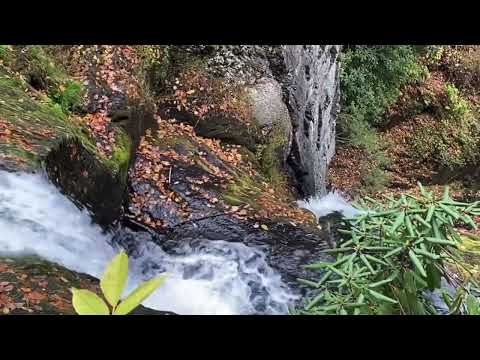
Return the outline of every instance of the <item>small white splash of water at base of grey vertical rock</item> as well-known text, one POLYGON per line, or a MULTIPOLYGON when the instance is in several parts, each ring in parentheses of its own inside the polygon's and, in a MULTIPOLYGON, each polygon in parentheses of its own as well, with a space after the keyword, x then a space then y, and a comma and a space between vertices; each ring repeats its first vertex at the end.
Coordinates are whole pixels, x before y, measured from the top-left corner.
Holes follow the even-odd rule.
POLYGON ((299 200, 298 206, 315 214, 317 221, 323 216, 339 212, 345 217, 354 217, 359 211, 351 206, 339 192, 330 192, 323 197, 299 200))

